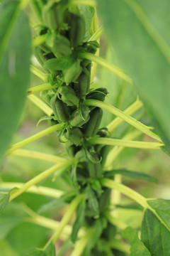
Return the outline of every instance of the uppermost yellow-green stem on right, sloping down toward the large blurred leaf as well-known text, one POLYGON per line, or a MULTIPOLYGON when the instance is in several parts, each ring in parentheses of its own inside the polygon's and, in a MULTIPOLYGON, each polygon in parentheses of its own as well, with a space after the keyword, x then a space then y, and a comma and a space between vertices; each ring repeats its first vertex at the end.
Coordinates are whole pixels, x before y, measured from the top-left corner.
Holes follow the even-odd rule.
POLYGON ((101 57, 98 57, 92 53, 79 53, 79 58, 85 58, 87 60, 94 61, 94 62, 98 63, 99 65, 101 65, 103 68, 107 68, 115 75, 118 75, 119 78, 122 78, 126 82, 129 82, 130 84, 132 84, 131 78, 128 75, 126 75, 123 72, 123 70, 121 70, 118 67, 115 67, 115 65, 113 65, 112 63, 109 63, 107 60, 105 60, 101 57))

